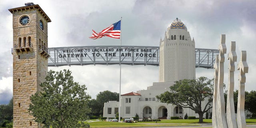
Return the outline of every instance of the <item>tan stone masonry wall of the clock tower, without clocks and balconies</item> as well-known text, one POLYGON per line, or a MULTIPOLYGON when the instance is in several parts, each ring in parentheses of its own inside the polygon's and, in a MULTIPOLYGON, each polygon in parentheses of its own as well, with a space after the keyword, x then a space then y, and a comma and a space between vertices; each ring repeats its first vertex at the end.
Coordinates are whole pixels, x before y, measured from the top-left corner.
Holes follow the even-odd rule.
MULTIPOLYGON (((32 51, 20 52, 13 50, 13 104, 14 128, 38 128, 33 116, 28 113, 30 96, 40 91, 39 85, 48 72, 48 59, 38 52, 39 39, 47 43, 47 22, 37 10, 13 13, 13 46, 18 39, 31 37, 32 51), (26 26, 19 23, 20 17, 27 15, 30 22, 26 26), (39 20, 44 21, 44 31, 39 28, 39 20)), ((48 46, 48 45, 47 45, 48 46)))

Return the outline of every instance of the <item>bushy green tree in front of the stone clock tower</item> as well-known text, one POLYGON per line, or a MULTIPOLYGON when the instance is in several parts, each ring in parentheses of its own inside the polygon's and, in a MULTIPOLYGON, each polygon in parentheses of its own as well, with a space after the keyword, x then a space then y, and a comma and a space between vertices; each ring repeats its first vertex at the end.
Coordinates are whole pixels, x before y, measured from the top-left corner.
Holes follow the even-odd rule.
POLYGON ((49 128, 77 128, 78 121, 86 120, 89 113, 85 85, 74 82, 70 70, 50 70, 41 92, 31 96, 29 112, 35 121, 49 128))

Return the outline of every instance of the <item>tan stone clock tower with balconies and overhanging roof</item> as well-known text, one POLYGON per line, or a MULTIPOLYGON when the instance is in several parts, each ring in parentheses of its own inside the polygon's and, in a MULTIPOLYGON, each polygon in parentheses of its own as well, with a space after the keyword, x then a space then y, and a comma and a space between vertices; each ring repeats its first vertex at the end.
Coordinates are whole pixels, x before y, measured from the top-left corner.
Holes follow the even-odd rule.
POLYGON ((12 8, 13 15, 13 127, 40 128, 28 113, 30 96, 40 91, 48 72, 48 22, 39 5, 12 8))

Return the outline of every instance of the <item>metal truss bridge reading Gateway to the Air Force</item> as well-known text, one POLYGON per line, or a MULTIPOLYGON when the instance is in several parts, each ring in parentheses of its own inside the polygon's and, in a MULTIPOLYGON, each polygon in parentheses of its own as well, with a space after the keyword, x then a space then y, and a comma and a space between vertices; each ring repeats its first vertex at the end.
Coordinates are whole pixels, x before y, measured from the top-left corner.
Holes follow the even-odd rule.
MULTIPOLYGON (((159 46, 75 46, 48 48, 48 66, 128 64, 159 66, 159 46)), ((196 68, 213 68, 216 49, 196 48, 196 68)))

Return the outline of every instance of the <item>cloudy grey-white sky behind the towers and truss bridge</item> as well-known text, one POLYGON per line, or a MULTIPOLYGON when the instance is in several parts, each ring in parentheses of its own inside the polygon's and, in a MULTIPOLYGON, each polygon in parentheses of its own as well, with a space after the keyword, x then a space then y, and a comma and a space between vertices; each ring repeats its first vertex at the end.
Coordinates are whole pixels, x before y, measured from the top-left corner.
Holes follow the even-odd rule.
MULTIPOLYGON (((247 51, 249 72, 245 89, 256 90, 255 0, 0 0, 0 104, 7 104, 12 98, 13 31, 12 14, 8 9, 24 6, 26 2, 39 4, 52 20, 48 23, 48 47, 119 45, 118 39, 90 40, 88 37, 92 29, 100 32, 120 17, 122 45, 127 46, 159 46, 168 25, 177 17, 194 37, 196 48, 218 49, 220 35, 226 34, 227 51, 230 42, 236 41, 238 61, 241 50, 247 51)), ((237 66, 237 62, 235 64, 237 66)), ((121 94, 143 90, 152 82, 158 82, 158 68, 123 65, 121 94)), ((224 82, 228 84, 228 65, 224 68, 224 82)), ((92 98, 104 90, 119 92, 119 65, 48 68, 63 69, 70 69, 75 81, 88 87, 92 98)), ((197 77, 213 78, 213 73, 213 69, 196 68, 197 77)), ((238 88, 238 81, 235 88, 238 88)))

